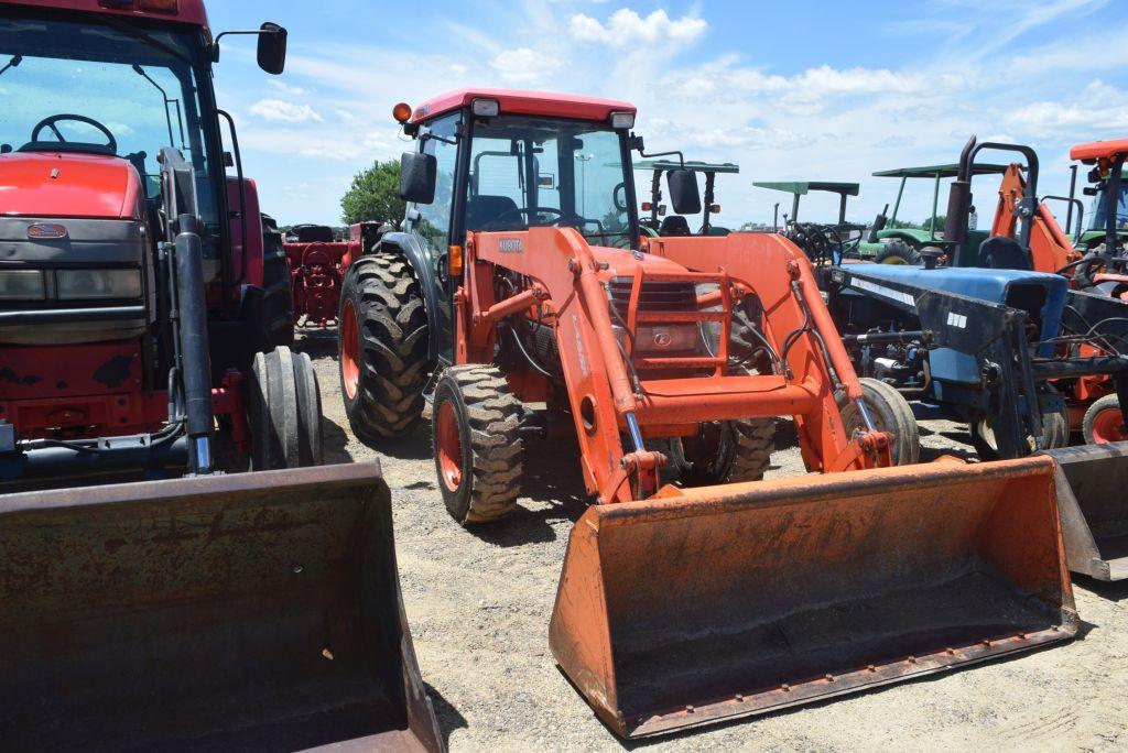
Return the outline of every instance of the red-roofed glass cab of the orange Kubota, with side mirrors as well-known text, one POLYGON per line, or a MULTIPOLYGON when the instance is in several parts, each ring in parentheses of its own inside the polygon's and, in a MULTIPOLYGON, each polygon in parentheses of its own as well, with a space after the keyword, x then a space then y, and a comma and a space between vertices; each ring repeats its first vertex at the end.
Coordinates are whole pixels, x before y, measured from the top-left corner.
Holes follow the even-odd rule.
MULTIPOLYGON (((452 361, 449 326, 468 233, 571 228, 593 247, 637 249, 629 103, 497 89, 459 90, 394 116, 416 139, 403 156, 402 232, 381 245, 412 260, 429 311, 432 357, 452 361)), ((668 171, 677 214, 702 211, 697 178, 668 171)))

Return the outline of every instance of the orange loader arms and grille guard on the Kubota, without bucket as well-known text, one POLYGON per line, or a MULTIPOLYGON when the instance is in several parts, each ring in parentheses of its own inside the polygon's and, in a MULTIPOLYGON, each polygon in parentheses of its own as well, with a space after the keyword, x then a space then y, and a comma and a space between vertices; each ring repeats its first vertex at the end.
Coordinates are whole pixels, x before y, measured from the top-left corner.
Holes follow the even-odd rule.
POLYGON ((872 422, 858 436, 843 426, 843 395, 867 416, 862 390, 800 251, 779 237, 746 233, 649 239, 644 250, 658 258, 632 251, 615 253, 614 260, 597 258, 576 231, 557 228, 474 233, 466 246, 465 287, 456 296, 457 363, 488 362, 495 325, 505 317, 530 307, 541 309, 538 316, 547 312, 590 494, 601 503, 651 496, 666 459, 646 450, 647 437, 690 434, 702 422, 732 418, 794 416, 812 471, 889 464, 888 436, 873 431, 872 422), (502 271, 530 284, 499 301, 494 276, 502 271), (641 322, 719 322, 720 352, 647 358, 620 349, 605 290, 611 277, 633 281, 626 321, 617 322, 628 338, 641 322), (699 298, 697 311, 643 312, 637 303, 646 281, 716 285, 717 292, 699 298), (755 295, 765 311, 763 334, 777 356, 774 373, 729 373, 733 302, 746 295, 755 295), (671 370, 690 375, 650 378, 671 370), (622 434, 631 440, 629 451, 622 434))

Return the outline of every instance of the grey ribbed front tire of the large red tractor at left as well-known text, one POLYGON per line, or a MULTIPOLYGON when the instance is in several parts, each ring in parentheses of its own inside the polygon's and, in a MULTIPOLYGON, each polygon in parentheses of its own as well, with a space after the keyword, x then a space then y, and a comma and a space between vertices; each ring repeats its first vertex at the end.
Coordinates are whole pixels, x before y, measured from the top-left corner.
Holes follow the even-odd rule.
POLYGON ((255 354, 247 414, 250 470, 321 464, 321 400, 308 355, 284 346, 255 354))

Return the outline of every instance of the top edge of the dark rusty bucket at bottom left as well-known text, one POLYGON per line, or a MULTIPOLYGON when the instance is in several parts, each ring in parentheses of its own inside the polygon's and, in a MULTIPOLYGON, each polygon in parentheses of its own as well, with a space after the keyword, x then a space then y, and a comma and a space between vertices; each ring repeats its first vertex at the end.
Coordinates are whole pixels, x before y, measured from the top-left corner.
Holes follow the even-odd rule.
POLYGON ((19 491, 0 496, 0 515, 45 510, 68 510, 132 503, 185 502, 231 493, 270 493, 275 487, 290 490, 329 490, 381 482, 379 461, 253 471, 230 476, 196 476, 160 481, 134 481, 90 487, 19 491))

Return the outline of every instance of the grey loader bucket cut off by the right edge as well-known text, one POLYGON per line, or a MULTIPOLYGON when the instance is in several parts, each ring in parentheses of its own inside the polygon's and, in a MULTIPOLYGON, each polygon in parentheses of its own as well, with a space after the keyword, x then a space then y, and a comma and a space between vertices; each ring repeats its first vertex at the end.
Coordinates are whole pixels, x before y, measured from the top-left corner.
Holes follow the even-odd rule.
POLYGON ((1128 442, 1050 450, 1069 569, 1128 578, 1128 442))

